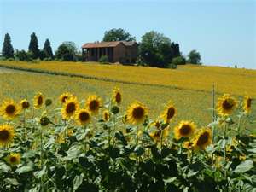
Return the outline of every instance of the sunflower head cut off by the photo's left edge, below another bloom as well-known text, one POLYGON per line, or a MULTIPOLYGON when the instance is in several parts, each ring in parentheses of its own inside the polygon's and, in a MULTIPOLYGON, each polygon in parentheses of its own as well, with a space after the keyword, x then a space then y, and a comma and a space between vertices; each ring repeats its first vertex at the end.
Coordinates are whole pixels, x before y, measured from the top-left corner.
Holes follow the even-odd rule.
POLYGON ((11 125, 0 125, 0 146, 12 143, 15 137, 14 127, 11 125))

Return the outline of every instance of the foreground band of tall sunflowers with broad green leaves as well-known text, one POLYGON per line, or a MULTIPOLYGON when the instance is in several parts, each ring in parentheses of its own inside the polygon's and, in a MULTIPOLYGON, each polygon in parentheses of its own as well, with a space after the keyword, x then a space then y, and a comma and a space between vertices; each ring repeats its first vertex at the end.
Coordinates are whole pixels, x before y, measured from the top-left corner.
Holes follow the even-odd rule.
POLYGON ((212 123, 124 108, 122 90, 0 103, 0 191, 256 191, 251 96, 212 103, 212 123), (149 118, 154 116, 155 118, 149 118))

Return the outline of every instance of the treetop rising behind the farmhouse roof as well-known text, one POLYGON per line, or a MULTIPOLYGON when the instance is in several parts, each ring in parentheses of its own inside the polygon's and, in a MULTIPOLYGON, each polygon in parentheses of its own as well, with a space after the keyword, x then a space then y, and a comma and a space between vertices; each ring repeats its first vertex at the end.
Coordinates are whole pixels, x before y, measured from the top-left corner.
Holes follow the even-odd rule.
POLYGON ((132 37, 129 32, 125 32, 124 29, 111 29, 109 31, 106 31, 104 34, 104 37, 102 39, 103 41, 135 41, 135 37, 132 37))

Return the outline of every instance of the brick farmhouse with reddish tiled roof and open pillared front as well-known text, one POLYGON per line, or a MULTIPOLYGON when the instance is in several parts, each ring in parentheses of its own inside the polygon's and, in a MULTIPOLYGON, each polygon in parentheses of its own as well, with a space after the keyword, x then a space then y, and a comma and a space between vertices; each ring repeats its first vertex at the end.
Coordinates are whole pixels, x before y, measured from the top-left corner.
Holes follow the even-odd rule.
POLYGON ((138 44, 134 41, 87 43, 82 46, 84 61, 99 61, 102 55, 109 62, 135 63, 138 44))

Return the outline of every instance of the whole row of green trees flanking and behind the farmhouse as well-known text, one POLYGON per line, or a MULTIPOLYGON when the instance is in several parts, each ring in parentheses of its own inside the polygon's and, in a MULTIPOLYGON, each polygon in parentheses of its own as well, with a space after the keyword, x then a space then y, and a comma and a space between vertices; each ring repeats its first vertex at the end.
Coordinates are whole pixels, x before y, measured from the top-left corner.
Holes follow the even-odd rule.
MULTIPOLYGON (((124 29, 111 29, 104 33, 102 41, 135 41, 124 29)), ((150 67, 177 67, 186 63, 201 64, 201 55, 196 50, 189 52, 186 57, 182 55, 179 44, 172 42, 160 32, 146 32, 141 42, 138 43, 137 64, 150 67)), ((63 42, 53 53, 49 39, 44 42, 43 49, 38 47, 38 38, 32 32, 28 50, 14 50, 9 33, 6 33, 3 41, 2 59, 17 61, 82 61, 80 49, 73 42, 63 42)))

